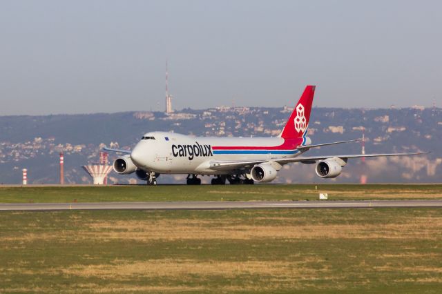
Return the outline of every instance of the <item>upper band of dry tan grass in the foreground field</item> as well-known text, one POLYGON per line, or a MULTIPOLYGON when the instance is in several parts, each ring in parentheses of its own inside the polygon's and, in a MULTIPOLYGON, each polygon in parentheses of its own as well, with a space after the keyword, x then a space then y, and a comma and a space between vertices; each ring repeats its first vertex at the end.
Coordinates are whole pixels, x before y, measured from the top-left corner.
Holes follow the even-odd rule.
MULTIPOLYGON (((276 218, 278 219, 278 218, 276 218)), ((279 219, 284 219, 279 218, 279 219)), ((236 219, 173 219, 146 221, 91 222, 75 235, 70 232, 26 233, 0 237, 0 242, 20 245, 36 240, 112 239, 153 242, 186 239, 440 239, 442 217, 413 217, 400 224, 271 224, 274 217, 260 220, 268 225, 244 225, 236 219), (428 225, 431 224, 431 225, 428 225)))

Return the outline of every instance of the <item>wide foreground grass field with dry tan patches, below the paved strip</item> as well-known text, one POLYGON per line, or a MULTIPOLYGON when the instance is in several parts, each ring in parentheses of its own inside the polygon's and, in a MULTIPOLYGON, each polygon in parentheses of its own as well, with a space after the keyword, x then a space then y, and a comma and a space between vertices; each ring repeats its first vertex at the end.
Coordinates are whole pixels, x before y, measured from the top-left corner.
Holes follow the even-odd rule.
POLYGON ((0 292, 440 293, 441 244, 437 208, 6 212, 0 292))

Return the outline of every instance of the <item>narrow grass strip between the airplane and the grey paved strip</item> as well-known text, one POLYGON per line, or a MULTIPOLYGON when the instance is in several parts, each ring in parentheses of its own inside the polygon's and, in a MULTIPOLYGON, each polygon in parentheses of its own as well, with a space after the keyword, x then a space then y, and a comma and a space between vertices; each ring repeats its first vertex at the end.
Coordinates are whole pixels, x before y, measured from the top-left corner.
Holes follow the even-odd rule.
POLYGON ((226 185, 226 186, 52 186, 1 187, 0 202, 140 202, 314 200, 328 193, 330 200, 442 199, 442 185, 226 185))

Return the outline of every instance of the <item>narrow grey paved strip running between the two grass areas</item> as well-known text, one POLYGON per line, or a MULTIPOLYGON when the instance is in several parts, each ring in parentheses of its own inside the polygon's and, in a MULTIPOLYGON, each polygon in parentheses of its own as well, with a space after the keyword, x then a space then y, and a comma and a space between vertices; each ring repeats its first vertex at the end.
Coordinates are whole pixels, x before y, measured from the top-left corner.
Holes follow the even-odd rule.
POLYGON ((220 210, 263 208, 442 208, 442 200, 11 203, 0 210, 220 210))

